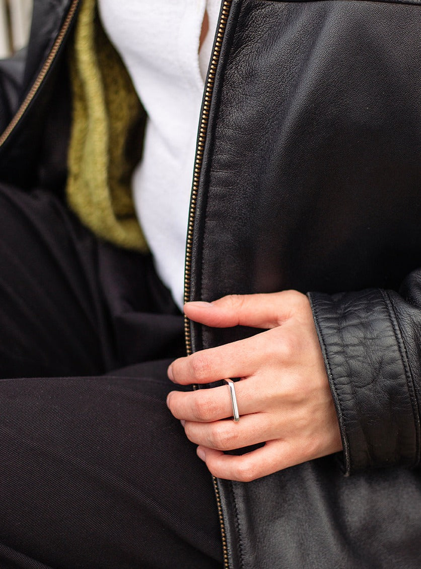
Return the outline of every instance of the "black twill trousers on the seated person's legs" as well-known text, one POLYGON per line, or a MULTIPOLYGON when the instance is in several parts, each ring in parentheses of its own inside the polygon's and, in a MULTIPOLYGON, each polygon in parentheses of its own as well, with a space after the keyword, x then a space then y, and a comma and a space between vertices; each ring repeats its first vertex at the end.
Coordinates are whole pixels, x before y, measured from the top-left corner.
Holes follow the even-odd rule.
POLYGON ((0 185, 0 567, 221 567, 212 481, 165 397, 182 317, 148 256, 0 185))

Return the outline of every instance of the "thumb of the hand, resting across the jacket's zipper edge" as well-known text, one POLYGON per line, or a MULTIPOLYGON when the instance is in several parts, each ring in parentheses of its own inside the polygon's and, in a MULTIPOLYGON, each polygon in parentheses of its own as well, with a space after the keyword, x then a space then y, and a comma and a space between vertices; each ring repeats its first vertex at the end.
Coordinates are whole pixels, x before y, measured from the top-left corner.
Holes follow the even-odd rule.
POLYGON ((210 303, 187 302, 184 312, 191 320, 218 328, 274 328, 289 318, 303 300, 307 300, 306 296, 297 291, 229 295, 210 303))

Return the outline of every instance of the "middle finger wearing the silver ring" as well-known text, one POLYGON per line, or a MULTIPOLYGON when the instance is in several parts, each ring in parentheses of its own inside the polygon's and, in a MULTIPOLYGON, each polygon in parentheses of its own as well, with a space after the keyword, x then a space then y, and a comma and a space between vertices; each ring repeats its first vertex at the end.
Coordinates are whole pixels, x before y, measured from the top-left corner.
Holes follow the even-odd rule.
MULTIPOLYGON (((265 402, 260 392, 256 393, 256 385, 249 380, 237 381, 235 393, 240 415, 258 413, 265 402)), ((198 389, 197 391, 171 391, 166 403, 177 419, 210 423, 232 416, 230 391, 227 385, 198 389)))

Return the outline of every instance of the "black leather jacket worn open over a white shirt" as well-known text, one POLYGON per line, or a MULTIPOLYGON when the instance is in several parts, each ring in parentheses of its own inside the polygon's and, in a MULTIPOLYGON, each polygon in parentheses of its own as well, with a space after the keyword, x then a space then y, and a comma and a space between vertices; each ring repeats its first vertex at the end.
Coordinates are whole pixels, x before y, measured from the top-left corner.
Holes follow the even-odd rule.
MULTIPOLYGON (((0 130, 51 59, 0 139, 2 180, 62 185, 61 52, 77 5, 36 0, 25 63, 2 65, 0 130)), ((227 567, 421 567, 420 217, 420 0, 224 0, 186 294, 317 291, 344 446, 252 483, 215 481, 227 567)), ((187 347, 249 333, 194 324, 187 347)))

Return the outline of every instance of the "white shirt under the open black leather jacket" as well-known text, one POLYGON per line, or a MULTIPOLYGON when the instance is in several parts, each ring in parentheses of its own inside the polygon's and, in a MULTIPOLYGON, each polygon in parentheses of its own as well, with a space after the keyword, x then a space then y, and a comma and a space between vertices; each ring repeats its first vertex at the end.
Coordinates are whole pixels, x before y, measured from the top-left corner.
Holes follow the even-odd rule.
POLYGON ((99 0, 103 26, 147 112, 132 181, 162 281, 183 304, 187 220, 204 80, 220 0, 99 0), (209 31, 199 53, 205 9, 209 31))

